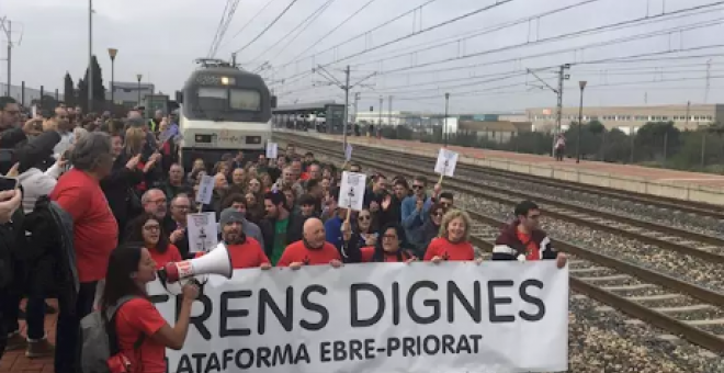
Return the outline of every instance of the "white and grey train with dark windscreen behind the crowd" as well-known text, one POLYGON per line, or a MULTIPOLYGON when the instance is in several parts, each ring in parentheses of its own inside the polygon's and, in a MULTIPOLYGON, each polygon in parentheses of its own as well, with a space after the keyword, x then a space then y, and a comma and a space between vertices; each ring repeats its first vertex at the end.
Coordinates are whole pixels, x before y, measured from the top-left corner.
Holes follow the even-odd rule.
POLYGON ((272 97, 263 79, 218 59, 200 59, 186 80, 179 111, 181 160, 211 166, 224 154, 257 159, 271 139, 272 97))

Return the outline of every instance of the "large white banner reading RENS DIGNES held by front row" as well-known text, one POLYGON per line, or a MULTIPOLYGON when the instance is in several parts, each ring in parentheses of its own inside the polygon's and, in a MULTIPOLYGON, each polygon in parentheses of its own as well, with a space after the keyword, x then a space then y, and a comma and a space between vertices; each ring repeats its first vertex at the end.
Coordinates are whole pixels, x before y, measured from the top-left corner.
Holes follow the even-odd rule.
MULTIPOLYGON (((168 372, 558 372, 568 270, 555 261, 236 270, 208 282, 168 372)), ((149 294, 174 324, 181 297, 149 294)))

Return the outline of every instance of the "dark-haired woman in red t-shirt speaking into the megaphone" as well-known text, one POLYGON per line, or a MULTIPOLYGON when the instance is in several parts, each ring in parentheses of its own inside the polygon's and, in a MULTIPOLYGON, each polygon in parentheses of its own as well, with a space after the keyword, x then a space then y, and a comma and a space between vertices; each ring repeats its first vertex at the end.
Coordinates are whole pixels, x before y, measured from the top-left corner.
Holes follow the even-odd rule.
POLYGON ((132 363, 132 372, 166 373, 166 349, 180 350, 189 331, 191 305, 199 287, 183 286, 183 301, 176 326, 171 327, 150 303, 146 284, 156 280, 156 262, 140 246, 122 246, 111 253, 101 309, 124 296, 136 296, 115 313, 118 349, 132 363), (135 347, 140 342, 139 347, 135 347))

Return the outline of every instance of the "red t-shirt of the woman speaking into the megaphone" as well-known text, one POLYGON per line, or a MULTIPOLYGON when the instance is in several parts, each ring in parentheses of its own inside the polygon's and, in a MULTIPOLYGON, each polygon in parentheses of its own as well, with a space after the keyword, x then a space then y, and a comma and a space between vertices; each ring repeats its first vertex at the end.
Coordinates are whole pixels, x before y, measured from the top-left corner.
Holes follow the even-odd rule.
POLYGON ((128 358, 136 372, 166 373, 166 346, 156 342, 151 337, 166 325, 154 304, 144 298, 128 301, 115 314, 115 331, 118 336, 118 348, 128 358), (134 350, 134 344, 144 335, 140 348, 134 350))

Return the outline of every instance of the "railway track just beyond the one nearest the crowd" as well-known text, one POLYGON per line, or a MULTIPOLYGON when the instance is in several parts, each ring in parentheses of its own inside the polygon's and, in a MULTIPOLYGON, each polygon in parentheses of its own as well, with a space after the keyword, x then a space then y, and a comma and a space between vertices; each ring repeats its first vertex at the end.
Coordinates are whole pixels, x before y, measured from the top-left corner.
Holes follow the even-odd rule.
MULTIPOLYGON (((279 138, 284 138, 279 136, 279 138)), ((294 143, 301 146, 313 147, 315 151, 329 151, 336 147, 316 145, 308 140, 294 138, 294 143)), ((399 165, 395 165, 393 173, 407 172, 412 174, 427 174, 431 179, 437 178, 431 172, 421 170, 432 170, 433 163, 419 159, 410 159, 405 155, 394 155, 383 152, 384 156, 369 156, 369 148, 355 149, 355 161, 375 162, 377 159, 394 159, 399 165), (393 156, 394 155, 394 156, 393 156), (414 167, 411 165, 418 163, 414 167), (421 163, 421 165, 420 165, 421 163)), ((374 149, 377 151, 377 149, 374 149)), ((621 237, 635 239, 648 245, 680 252, 686 256, 703 259, 711 263, 724 264, 724 239, 693 230, 670 227, 658 223, 646 222, 635 217, 624 216, 614 212, 591 210, 590 206, 579 205, 574 202, 559 201, 550 196, 518 191, 502 185, 485 182, 487 174, 478 172, 477 176, 462 176, 445 180, 445 188, 479 196, 486 200, 502 204, 516 205, 521 200, 535 200, 542 211, 551 217, 574 223, 576 225, 589 227, 591 229, 608 231, 621 237), (465 181, 461 181, 465 180, 465 181), (484 187, 472 188, 471 183, 484 187)))

